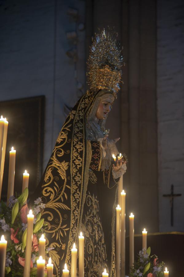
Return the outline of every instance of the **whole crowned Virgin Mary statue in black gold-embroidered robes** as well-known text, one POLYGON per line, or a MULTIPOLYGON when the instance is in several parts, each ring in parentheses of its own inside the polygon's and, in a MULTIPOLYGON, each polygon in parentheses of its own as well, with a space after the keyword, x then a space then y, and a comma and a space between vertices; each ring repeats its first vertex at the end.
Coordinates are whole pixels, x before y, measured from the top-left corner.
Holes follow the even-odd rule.
POLYGON ((116 35, 95 34, 88 60, 89 91, 76 103, 58 135, 33 199, 45 203, 42 217, 55 274, 71 265, 71 248, 84 235, 84 275, 115 276, 115 207, 118 181, 126 171, 116 161, 105 122, 117 98, 123 57, 116 35), (35 198, 36 197, 36 198, 35 198))

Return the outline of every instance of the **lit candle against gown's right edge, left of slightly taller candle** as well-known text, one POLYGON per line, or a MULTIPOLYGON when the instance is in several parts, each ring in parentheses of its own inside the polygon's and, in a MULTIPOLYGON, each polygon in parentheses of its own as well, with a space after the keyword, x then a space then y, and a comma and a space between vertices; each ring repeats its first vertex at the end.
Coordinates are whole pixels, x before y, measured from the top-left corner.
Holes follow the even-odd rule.
POLYGON ((121 255, 121 208, 116 207, 116 276, 120 277, 120 255, 121 255))

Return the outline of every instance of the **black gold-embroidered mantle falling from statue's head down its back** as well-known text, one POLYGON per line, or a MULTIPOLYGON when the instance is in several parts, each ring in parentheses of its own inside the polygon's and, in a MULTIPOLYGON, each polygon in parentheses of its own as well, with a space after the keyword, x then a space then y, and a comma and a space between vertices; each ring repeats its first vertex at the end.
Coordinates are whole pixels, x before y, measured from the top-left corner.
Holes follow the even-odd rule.
MULTIPOLYGON (((108 94, 111 94, 108 92, 108 94)), ((76 103, 57 138, 49 163, 37 187, 41 191, 47 222, 46 238, 57 274, 70 265, 71 248, 77 242, 91 162, 91 144, 86 139, 86 121, 96 113, 106 90, 86 93, 76 103), (70 224, 70 225, 69 225, 70 224)), ((105 120, 100 122, 104 126, 105 120)))

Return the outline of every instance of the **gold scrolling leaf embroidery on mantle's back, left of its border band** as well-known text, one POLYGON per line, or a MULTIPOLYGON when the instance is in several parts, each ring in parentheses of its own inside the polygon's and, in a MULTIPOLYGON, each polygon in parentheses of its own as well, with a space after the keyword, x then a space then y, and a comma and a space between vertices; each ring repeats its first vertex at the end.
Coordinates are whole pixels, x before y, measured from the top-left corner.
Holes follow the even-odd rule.
MULTIPOLYGON (((68 216, 67 211, 71 210, 69 205, 66 204, 68 195, 65 191, 66 188, 69 191, 71 189, 69 182, 67 184, 67 180, 70 178, 67 178, 66 173, 69 169, 69 162, 65 162, 65 160, 60 162, 59 159, 64 154, 70 155, 70 150, 65 152, 63 150, 63 146, 67 142, 71 141, 71 139, 68 139, 68 132, 71 127, 70 122, 74 118, 75 114, 76 111, 72 110, 67 118, 68 120, 66 120, 61 129, 45 173, 44 182, 42 184, 42 200, 45 202, 45 211, 42 215, 45 215, 45 222, 47 223, 47 227, 45 229, 46 237, 47 233, 52 234, 52 239, 50 239, 52 242, 49 242, 47 239, 47 245, 49 247, 54 247, 54 249, 49 251, 49 255, 54 263, 57 276, 59 274, 58 266, 60 260, 63 259, 65 253, 66 244, 64 238, 67 236, 67 231, 69 231, 69 226, 65 224, 65 219, 68 216), (53 242, 53 240, 55 240, 55 242, 53 242), (59 251, 60 255, 58 254, 59 251)), ((70 159, 70 157, 68 159, 70 159)))

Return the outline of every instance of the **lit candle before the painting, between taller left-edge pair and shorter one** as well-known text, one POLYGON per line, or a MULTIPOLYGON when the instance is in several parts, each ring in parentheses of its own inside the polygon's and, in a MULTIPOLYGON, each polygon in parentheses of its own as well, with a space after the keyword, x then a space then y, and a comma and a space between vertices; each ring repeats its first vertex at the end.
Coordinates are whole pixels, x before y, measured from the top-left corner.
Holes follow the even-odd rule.
POLYGON ((7 206, 9 204, 10 196, 14 195, 15 156, 16 156, 16 150, 14 150, 14 147, 12 147, 10 151, 9 171, 8 171, 7 206))

